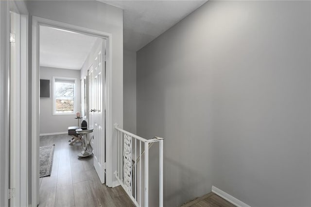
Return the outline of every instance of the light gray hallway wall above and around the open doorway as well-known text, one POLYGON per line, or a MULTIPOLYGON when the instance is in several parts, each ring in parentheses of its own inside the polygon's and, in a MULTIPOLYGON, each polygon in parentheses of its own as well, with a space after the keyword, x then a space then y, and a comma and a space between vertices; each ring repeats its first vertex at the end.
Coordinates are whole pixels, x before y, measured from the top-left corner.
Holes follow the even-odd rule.
MULTIPOLYGON (((29 62, 31 64, 32 16, 43 17, 80 27, 94 29, 112 35, 112 122, 123 126, 123 11, 119 8, 106 5, 99 1, 71 1, 71 0, 44 0, 27 1, 30 14, 29 24, 29 62)), ((29 68, 30 70, 32 67, 29 68)), ((31 76, 31 71, 30 74, 31 76)), ((31 88, 31 87, 30 87, 31 88)), ((29 94, 31 97, 31 93, 29 94)), ((30 98, 31 99, 31 98, 30 98)), ((31 106, 31 103, 29 103, 31 106)), ((29 110, 31 112, 31 109, 29 110)), ((31 117, 30 117, 31 119, 31 117)), ((31 127, 31 126, 30 126, 31 127)), ((112 129, 111 129, 112 130, 112 129)), ((113 133, 113 138, 116 133, 113 133)), ((29 136, 32 138, 32 136, 29 136)), ((115 139, 113 139, 115 141, 115 139)), ((29 142, 31 144, 31 140, 29 142)), ((113 152, 116 142, 113 142, 113 152)), ((29 156, 31 157, 31 156, 29 156)), ((116 169, 111 169, 111 174, 116 169)), ((114 177, 114 176, 113 176, 114 177)), ((30 180, 31 182, 31 180, 30 180)), ((30 195, 31 196, 31 195, 30 195)))

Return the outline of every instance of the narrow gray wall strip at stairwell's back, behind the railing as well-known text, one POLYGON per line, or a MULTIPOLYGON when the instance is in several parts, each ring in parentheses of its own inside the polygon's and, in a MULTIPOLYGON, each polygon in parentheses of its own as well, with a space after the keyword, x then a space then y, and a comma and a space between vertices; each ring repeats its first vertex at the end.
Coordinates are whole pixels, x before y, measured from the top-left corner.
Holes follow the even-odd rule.
POLYGON ((136 52, 123 51, 123 129, 136 134, 136 52))

